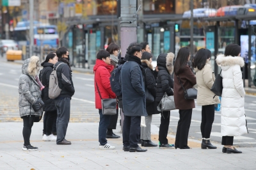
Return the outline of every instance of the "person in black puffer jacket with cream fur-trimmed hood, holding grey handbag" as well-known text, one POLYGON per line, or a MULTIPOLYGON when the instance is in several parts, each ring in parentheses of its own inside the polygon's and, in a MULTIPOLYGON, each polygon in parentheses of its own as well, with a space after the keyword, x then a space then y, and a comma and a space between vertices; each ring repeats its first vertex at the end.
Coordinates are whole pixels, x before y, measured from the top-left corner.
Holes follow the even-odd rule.
MULTIPOLYGON (((173 72, 173 58, 172 52, 168 54, 159 54, 157 58, 157 91, 156 91, 156 102, 159 104, 163 98, 164 93, 168 96, 173 95, 173 79, 171 77, 173 72)), ((161 124, 159 127, 159 148, 172 149, 172 145, 168 144, 168 129, 170 123, 170 111, 163 112, 161 114, 161 124)))

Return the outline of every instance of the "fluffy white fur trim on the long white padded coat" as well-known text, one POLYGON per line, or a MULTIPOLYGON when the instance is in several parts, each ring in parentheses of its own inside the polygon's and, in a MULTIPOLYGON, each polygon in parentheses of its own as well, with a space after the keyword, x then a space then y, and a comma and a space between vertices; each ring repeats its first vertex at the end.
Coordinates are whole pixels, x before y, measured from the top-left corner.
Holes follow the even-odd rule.
POLYGON ((224 54, 219 54, 216 58, 216 63, 218 66, 221 66, 221 68, 229 68, 230 66, 239 65, 241 67, 244 66, 244 59, 236 56, 224 56, 224 54))

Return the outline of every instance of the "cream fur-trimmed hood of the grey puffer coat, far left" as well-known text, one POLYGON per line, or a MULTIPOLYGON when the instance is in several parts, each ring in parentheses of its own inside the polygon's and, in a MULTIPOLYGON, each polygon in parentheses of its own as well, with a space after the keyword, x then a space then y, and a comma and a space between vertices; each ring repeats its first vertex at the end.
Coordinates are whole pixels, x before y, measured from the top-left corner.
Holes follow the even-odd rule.
POLYGON ((35 77, 39 73, 39 58, 38 56, 32 56, 24 61, 22 65, 22 73, 35 77))

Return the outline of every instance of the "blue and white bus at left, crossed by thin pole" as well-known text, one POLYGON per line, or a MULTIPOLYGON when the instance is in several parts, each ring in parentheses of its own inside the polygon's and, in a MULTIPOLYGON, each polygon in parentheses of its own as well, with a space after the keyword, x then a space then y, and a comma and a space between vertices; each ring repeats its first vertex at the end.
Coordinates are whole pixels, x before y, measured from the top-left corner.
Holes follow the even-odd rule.
MULTIPOLYGON (((56 26, 45 25, 41 22, 34 21, 33 31, 33 45, 53 48, 58 47, 59 36, 56 26)), ((17 26, 14 28, 14 40, 19 46, 29 45, 29 21, 17 23, 17 26)))

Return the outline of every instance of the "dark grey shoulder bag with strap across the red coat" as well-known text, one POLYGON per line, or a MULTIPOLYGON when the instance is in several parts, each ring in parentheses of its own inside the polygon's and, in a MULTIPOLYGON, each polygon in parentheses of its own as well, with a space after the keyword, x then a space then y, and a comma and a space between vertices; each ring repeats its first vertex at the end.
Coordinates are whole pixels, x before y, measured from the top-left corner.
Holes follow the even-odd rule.
MULTIPOLYGON (((95 82, 96 82, 96 80, 95 80, 95 82)), ((96 82, 96 86, 97 86, 98 93, 100 95, 100 91, 99 91, 97 82, 96 82)), ((104 98, 103 99, 100 95, 100 99, 101 99, 101 106, 102 106, 102 114, 103 115, 115 115, 116 114, 116 105, 118 104, 116 98, 104 98)))

